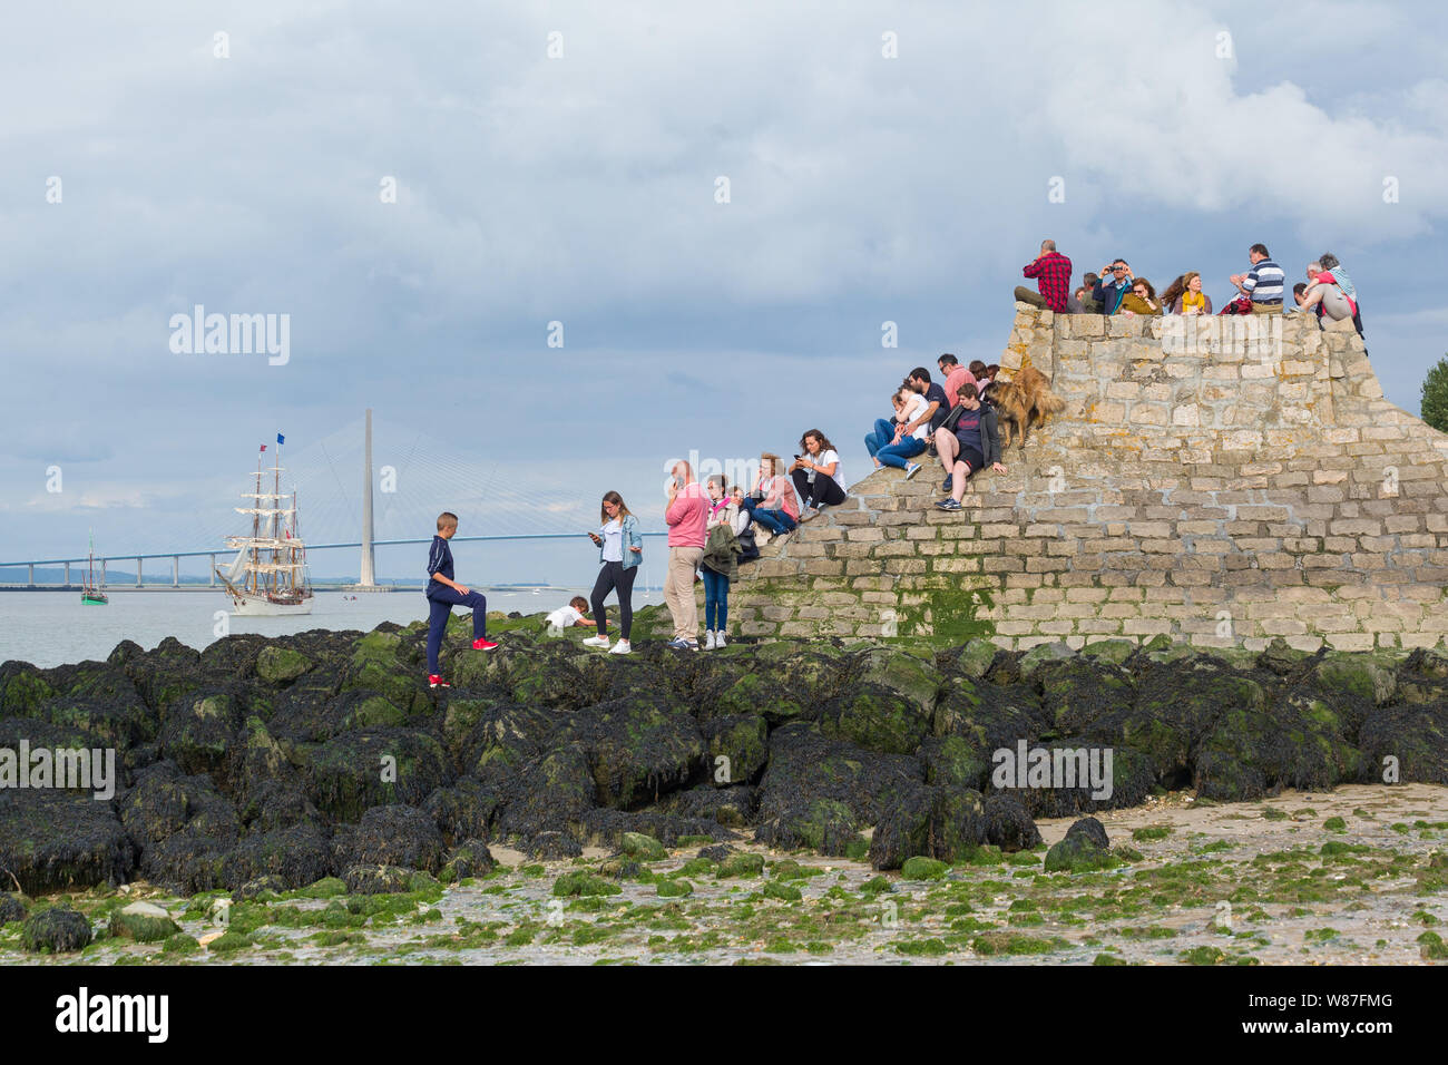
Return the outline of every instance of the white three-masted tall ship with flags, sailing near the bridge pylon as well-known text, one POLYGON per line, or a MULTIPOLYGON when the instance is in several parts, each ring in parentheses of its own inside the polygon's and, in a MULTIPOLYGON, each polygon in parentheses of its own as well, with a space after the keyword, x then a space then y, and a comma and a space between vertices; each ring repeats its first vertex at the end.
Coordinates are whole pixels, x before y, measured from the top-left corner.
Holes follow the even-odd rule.
POLYGON ((277 465, 262 468, 266 445, 256 456, 253 491, 243 491, 249 507, 236 507, 237 514, 251 514, 251 536, 227 536, 226 546, 236 549, 227 569, 217 567, 216 575, 232 597, 232 613, 252 617, 311 613, 311 578, 307 575, 307 546, 297 533, 297 493, 281 490, 281 448, 285 438, 277 433, 277 465), (272 475, 271 491, 262 491, 264 474, 272 475), (287 504, 291 506, 287 506, 287 504))

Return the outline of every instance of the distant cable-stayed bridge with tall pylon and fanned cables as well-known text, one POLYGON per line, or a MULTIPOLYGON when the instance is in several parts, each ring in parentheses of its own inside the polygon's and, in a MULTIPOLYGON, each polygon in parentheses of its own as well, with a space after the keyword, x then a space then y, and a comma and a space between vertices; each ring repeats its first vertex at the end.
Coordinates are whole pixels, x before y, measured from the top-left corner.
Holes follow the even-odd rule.
MULTIPOLYGON (((265 455, 274 455, 274 446, 268 445, 265 455)), ((239 468, 245 455, 243 449, 237 456, 239 468)), ((345 556, 321 561, 314 555, 356 551, 358 582, 346 585, 355 591, 391 590, 376 582, 376 549, 430 543, 433 519, 443 510, 456 513, 462 529, 487 530, 459 532, 452 539, 455 545, 576 540, 582 530, 598 525, 597 496, 560 498, 556 490, 540 487, 540 478, 500 469, 497 462, 430 439, 426 430, 387 427, 374 439, 371 410, 324 438, 288 446, 279 462, 281 494, 290 501, 291 491, 297 491, 297 535, 307 545, 308 567, 314 571, 319 565, 349 569, 345 556), (420 527, 427 535, 418 536, 420 527)), ((265 481, 272 465, 264 462, 262 472, 265 481)), ((255 471, 216 478, 214 510, 191 514, 187 529, 168 527, 171 545, 148 543, 97 554, 100 584, 106 585, 109 565, 135 564, 135 574, 127 575, 125 585, 109 587, 217 587, 217 565, 224 567, 236 555, 224 546, 226 538, 249 529, 249 519, 233 509, 243 501, 239 490, 253 485, 255 471), (206 559, 206 585, 190 580, 182 584, 182 559, 206 559), (153 577, 148 577, 148 562, 153 577)), ((643 535, 666 533, 646 530, 643 535)), ((87 555, 3 561, 0 587, 78 588, 87 562, 87 555), (59 568, 59 574, 38 582, 38 568, 59 568)), ((416 582, 421 584, 421 577, 416 582)))

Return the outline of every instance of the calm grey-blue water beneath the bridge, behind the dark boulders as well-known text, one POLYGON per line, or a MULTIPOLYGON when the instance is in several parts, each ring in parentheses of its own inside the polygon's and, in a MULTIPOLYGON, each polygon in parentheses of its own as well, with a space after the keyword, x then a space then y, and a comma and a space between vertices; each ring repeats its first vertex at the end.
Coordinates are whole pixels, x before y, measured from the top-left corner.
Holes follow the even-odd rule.
MULTIPOLYGON (((488 610, 524 614, 556 610, 586 590, 543 588, 481 590, 488 610)), ((167 636, 201 649, 229 630, 284 636, 308 629, 369 630, 379 622, 407 625, 427 617, 420 591, 359 594, 345 598, 340 591, 319 591, 310 614, 303 617, 232 617, 229 600, 209 591, 114 591, 103 607, 83 606, 78 591, 0 591, 0 662, 20 659, 41 667, 106 658, 117 643, 130 639, 146 648, 167 636), (220 630, 219 630, 220 629, 220 630)), ((634 606, 660 601, 660 594, 634 593, 634 606)), ((613 597, 610 597, 613 603, 613 597)), ((466 610, 458 613, 466 614, 466 610)))

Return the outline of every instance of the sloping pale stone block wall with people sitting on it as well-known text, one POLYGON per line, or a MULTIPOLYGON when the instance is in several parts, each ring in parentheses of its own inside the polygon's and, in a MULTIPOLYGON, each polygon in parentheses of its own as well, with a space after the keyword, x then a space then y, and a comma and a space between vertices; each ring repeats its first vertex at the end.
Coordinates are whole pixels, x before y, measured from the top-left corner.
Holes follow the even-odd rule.
POLYGON ((1009 649, 1448 633, 1448 436, 1383 398, 1351 323, 1016 304, 1001 364, 1027 361, 1066 409, 1006 451, 1006 474, 947 514, 934 459, 911 481, 873 472, 741 568, 730 627, 1009 649))

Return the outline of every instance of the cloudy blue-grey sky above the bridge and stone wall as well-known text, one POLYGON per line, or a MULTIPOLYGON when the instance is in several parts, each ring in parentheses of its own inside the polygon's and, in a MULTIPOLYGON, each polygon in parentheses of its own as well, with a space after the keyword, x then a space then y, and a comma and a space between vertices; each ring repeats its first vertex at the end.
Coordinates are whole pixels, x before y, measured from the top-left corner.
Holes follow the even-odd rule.
MULTIPOLYGON (((366 407, 398 471, 385 536, 443 507, 465 533, 581 529, 608 488, 662 527, 668 458, 788 455, 815 426, 857 480, 905 371, 995 361, 1045 236, 1077 277, 1124 255, 1218 301, 1253 242, 1293 280, 1332 251, 1416 413, 1448 349, 1445 9, 1102 10, 13 9, 0 559, 88 527, 116 555, 219 546, 278 430, 304 532, 355 539, 366 407), (288 316, 287 362, 174 351, 195 304, 288 316)), ((469 552, 487 581, 597 558, 469 552)))

